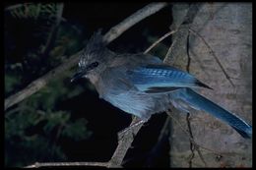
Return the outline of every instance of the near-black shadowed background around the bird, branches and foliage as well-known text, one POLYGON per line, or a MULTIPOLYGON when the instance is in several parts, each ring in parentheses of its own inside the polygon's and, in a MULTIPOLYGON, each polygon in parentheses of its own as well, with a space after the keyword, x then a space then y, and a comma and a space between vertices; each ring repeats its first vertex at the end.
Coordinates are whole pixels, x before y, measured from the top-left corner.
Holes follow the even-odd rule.
MULTIPOLYGON (((14 4, 6 4, 6 7, 10 5, 14 4)), ((61 54, 65 54, 67 57, 74 54, 83 48, 87 39, 98 28, 102 28, 102 32, 105 33, 109 28, 117 25, 145 5, 147 3, 65 3, 62 17, 66 19, 66 22, 62 23, 59 29, 63 28, 62 34, 68 37, 68 42, 73 40, 76 41, 77 45, 71 48, 65 47, 65 52, 61 54), (74 33, 75 35, 72 33, 68 34, 71 32, 71 27, 78 29, 74 33)), ((56 57, 58 55, 52 52, 56 46, 61 46, 58 44, 58 40, 55 40, 52 51, 47 57, 40 58, 41 56, 37 54, 38 46, 45 43, 45 37, 47 37, 47 32, 49 32, 49 26, 40 27, 44 25, 46 20, 47 17, 42 22, 34 22, 31 18, 14 18, 10 12, 5 12, 5 97, 18 92, 60 63, 60 60, 56 57), (34 33, 35 35, 33 32, 36 32, 34 33), (21 66, 19 65, 20 67, 18 67, 17 63, 21 63, 21 66), (7 79, 9 77, 12 79, 7 79), (15 82, 13 80, 19 81, 15 82)), ((169 6, 125 31, 121 36, 112 41, 108 47, 115 52, 143 52, 154 42, 154 39, 157 40, 158 37, 168 31, 170 24, 171 7, 169 6)), ((62 34, 58 34, 59 36, 57 35, 56 39, 61 37, 62 34)), ((170 38, 164 40, 161 43, 163 47, 156 47, 152 54, 158 56, 164 54, 167 50, 167 48, 164 48, 164 45, 168 45, 170 40, 170 38)), ((33 94, 34 96, 43 97, 29 97, 29 101, 23 101, 21 104, 17 104, 6 111, 6 166, 26 166, 34 161, 108 161, 111 158, 117 146, 117 132, 126 128, 130 124, 132 117, 108 102, 99 99, 96 90, 87 80, 79 80, 77 83, 71 84, 70 77, 75 73, 75 70, 76 68, 68 76, 60 78, 60 80, 53 80, 56 83, 46 85, 43 90, 48 93, 45 95, 40 95, 40 91, 33 94), (59 85, 60 82, 61 85, 59 85), (58 90, 62 89, 62 86, 66 87, 65 90, 63 89, 64 92, 59 95, 60 92, 58 90), (56 94, 50 99, 53 90, 56 90, 56 94), (76 94, 72 95, 72 97, 67 97, 71 92, 76 94), (54 101, 45 106, 45 103, 49 100, 54 101), (21 108, 23 105, 31 107, 31 115, 33 115, 34 111, 38 110, 42 110, 45 114, 54 114, 61 110, 70 116, 69 120, 71 121, 83 118, 87 121, 86 128, 87 131, 90 131, 91 135, 76 141, 74 141, 72 136, 57 136, 59 124, 54 124, 54 128, 49 133, 45 133, 45 127, 48 127, 51 121, 50 119, 45 119, 38 121, 34 125, 31 123, 30 126, 21 130, 24 135, 19 136, 16 134, 19 127, 18 125, 16 127, 14 123, 19 121, 17 124, 25 125, 26 123, 24 122, 28 118, 23 117, 23 114, 26 114, 28 110, 23 114, 21 114, 19 109, 18 111, 12 110, 21 108), (12 116, 10 116, 11 114, 12 116), (17 119, 18 116, 21 118, 17 119), (12 123, 12 120, 16 122, 12 123), (34 148, 30 148, 32 146, 31 143, 23 138, 27 136, 32 137, 33 135, 43 137, 46 142, 49 141, 49 147, 52 145, 60 147, 60 154, 64 156, 58 158, 57 153, 47 156, 46 151, 43 153, 43 149, 36 149, 36 147, 40 147, 40 144, 35 144, 34 148), (58 137, 58 140, 54 142, 52 139, 56 137, 58 137), (22 144, 23 142, 24 144, 22 144), (36 154, 31 154, 31 152, 36 152, 36 154)), ((136 136, 132 144, 133 147, 127 152, 125 167, 169 166, 167 137, 157 145, 165 118, 165 114, 154 115, 145 124, 142 131, 136 136)), ((76 131, 80 130, 79 126, 74 129, 76 131)))

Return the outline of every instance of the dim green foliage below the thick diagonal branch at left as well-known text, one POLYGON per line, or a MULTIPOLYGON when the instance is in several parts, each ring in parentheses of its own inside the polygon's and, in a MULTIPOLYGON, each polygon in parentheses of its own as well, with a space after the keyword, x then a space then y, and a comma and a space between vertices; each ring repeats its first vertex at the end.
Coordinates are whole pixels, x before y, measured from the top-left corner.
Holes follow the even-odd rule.
POLYGON ((65 78, 52 81, 20 103, 17 109, 6 113, 7 166, 25 166, 34 161, 48 159, 64 161, 65 153, 54 141, 63 137, 81 141, 91 136, 92 133, 86 128, 85 119, 72 120, 69 112, 54 109, 57 103, 61 103, 62 100, 82 90, 81 87, 72 90, 63 84, 63 80, 65 78), (32 129, 37 129, 36 132, 41 132, 41 134, 31 134, 32 129), (29 151, 30 155, 21 156, 22 153, 18 154, 20 150, 21 152, 29 151))

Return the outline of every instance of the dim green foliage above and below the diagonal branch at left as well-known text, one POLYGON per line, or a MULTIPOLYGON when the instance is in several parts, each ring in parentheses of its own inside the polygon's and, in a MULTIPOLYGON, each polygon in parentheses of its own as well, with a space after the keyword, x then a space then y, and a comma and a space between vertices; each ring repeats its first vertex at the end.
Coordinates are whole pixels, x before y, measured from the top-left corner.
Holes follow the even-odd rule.
MULTIPOLYGON (((9 41, 5 44, 6 51, 9 51, 5 54, 6 97, 28 85, 28 80, 32 82, 31 78, 39 78, 42 73, 56 67, 82 47, 80 28, 62 23, 47 61, 38 55, 48 37, 45 34, 49 34, 49 26, 55 21, 57 8, 58 5, 53 3, 26 3, 8 11, 15 20, 7 20, 5 29, 5 38, 9 41), (25 20, 28 23, 21 22, 25 20), (17 26, 24 27, 20 30, 23 32, 18 32, 17 28, 9 29, 17 27, 17 23, 17 26), (31 24, 33 29, 26 29, 31 24), (23 41, 19 41, 21 34, 33 42, 29 46, 22 46, 26 49, 16 50, 23 45, 23 41), (13 47, 13 50, 8 50, 13 47)), ((70 84, 71 75, 71 71, 64 72, 5 113, 6 166, 21 167, 35 161, 65 161, 66 155, 59 139, 79 142, 90 138, 92 132, 87 129, 85 119, 74 118, 70 111, 58 108, 63 101, 83 90, 82 86, 74 87, 70 84)))

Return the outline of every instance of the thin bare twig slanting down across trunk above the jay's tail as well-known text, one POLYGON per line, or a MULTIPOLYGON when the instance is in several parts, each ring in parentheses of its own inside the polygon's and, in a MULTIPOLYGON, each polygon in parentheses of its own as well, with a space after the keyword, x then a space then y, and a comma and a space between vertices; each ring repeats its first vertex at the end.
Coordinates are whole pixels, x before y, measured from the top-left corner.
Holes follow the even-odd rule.
POLYGON ((193 34, 195 34, 197 37, 199 37, 201 40, 203 40, 203 42, 206 44, 206 46, 209 48, 210 53, 214 56, 216 62, 218 63, 218 65, 220 66, 220 68, 222 69, 222 71, 224 72, 224 76, 227 79, 227 81, 234 86, 234 84, 232 83, 230 77, 228 76, 228 74, 226 73, 223 64, 221 63, 221 61, 219 60, 219 58, 217 57, 217 55, 215 54, 214 50, 211 48, 211 46, 208 44, 208 42, 205 40, 205 38, 199 34, 198 32, 196 32, 195 30, 189 28, 189 31, 192 32, 193 34))

